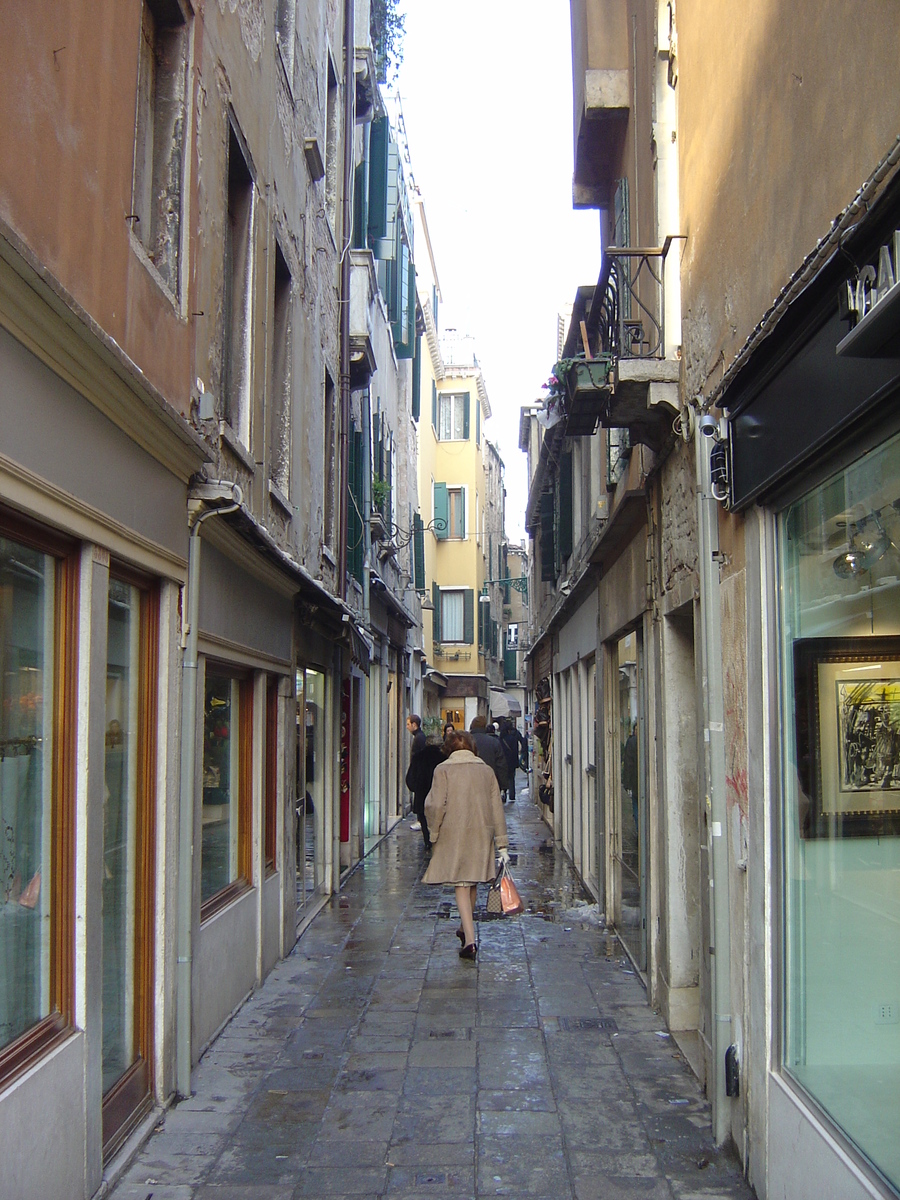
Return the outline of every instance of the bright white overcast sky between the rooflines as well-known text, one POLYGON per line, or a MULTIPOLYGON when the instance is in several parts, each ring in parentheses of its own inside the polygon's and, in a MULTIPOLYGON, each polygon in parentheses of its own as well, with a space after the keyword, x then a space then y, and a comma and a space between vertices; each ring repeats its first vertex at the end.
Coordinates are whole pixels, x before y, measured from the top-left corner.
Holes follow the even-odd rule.
POLYGON ((475 338, 517 541, 527 498, 518 410, 542 395, 557 313, 600 269, 598 214, 571 206, 569 0, 401 7, 394 86, 434 247, 440 324, 475 338))

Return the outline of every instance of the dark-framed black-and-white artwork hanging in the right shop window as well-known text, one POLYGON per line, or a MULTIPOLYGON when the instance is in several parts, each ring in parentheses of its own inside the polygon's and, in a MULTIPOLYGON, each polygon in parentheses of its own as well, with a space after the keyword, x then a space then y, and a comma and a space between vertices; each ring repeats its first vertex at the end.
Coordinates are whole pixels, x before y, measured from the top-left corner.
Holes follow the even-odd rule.
POLYGON ((793 643, 803 838, 900 835, 900 637, 793 643))

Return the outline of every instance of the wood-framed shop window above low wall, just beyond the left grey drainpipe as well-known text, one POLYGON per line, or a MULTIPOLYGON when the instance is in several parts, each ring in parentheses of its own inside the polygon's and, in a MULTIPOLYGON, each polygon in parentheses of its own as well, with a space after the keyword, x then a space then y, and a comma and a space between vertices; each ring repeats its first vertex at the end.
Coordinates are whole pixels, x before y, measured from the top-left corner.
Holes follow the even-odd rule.
POLYGON ((251 680, 206 667, 203 715, 200 904, 206 918, 245 887, 250 869, 251 680))

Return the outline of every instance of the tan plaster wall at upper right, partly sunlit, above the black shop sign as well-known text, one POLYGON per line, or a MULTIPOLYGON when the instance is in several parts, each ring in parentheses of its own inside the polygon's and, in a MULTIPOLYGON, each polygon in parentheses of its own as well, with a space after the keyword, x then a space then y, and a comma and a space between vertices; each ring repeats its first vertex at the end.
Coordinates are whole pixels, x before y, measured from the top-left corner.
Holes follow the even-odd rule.
POLYGON ((893 144, 898 56, 878 0, 678 7, 688 395, 715 386, 893 144))

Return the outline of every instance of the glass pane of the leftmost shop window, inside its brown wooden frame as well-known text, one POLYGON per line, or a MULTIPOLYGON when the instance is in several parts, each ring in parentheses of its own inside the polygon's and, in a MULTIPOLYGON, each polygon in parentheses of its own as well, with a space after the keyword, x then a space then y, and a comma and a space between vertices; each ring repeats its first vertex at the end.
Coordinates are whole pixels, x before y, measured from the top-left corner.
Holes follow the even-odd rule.
POLYGON ((55 569, 0 538, 0 1050, 53 1007, 55 569))

